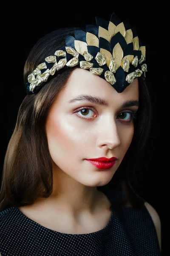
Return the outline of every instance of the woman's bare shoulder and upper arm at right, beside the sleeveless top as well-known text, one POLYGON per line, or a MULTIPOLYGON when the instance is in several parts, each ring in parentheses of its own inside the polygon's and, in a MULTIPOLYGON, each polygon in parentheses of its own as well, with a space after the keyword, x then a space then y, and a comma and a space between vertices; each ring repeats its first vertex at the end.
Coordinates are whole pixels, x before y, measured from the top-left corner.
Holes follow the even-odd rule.
POLYGON ((153 206, 151 206, 149 203, 145 202, 144 205, 146 206, 148 212, 150 213, 150 216, 153 220, 153 223, 155 225, 156 228, 156 233, 158 236, 158 241, 159 241, 159 247, 161 250, 161 220, 159 218, 158 213, 156 212, 156 210, 153 208, 153 206))

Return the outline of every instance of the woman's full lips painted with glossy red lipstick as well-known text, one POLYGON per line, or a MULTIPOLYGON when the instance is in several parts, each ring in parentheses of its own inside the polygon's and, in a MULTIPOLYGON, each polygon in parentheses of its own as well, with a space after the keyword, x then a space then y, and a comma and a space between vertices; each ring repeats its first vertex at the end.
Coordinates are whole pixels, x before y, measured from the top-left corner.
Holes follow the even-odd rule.
POLYGON ((110 169, 116 163, 117 158, 98 157, 86 160, 90 162, 92 165, 96 166, 98 169, 110 169))

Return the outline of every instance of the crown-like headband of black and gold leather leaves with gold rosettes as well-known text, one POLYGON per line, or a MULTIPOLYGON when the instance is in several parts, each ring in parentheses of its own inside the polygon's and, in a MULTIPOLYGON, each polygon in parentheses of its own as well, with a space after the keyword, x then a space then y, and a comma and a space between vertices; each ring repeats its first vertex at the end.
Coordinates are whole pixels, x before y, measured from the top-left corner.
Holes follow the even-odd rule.
POLYGON ((86 32, 75 30, 74 37, 66 36, 65 47, 56 49, 28 76, 27 94, 38 92, 57 71, 75 66, 102 77, 118 93, 136 77, 145 77, 146 51, 136 30, 114 12, 109 22, 96 17, 96 23, 87 25, 86 32))

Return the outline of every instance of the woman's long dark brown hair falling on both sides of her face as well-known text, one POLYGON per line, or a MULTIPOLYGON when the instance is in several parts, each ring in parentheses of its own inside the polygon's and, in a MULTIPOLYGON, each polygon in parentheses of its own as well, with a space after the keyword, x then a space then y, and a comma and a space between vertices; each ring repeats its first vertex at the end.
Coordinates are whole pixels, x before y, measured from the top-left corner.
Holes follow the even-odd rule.
MULTIPOLYGON (((45 35, 33 47, 24 66, 24 83, 38 64, 52 55, 56 49, 65 45, 65 36, 74 35, 79 28, 57 29, 45 35)), ((39 197, 48 198, 53 190, 53 171, 51 156, 45 135, 45 122, 49 109, 58 93, 65 88, 66 82, 75 69, 54 76, 37 93, 27 95, 20 105, 17 122, 8 143, 3 166, 0 189, 0 211, 11 206, 33 204, 39 197)), ((125 154, 112 180, 99 190, 121 189, 124 200, 117 205, 130 203, 139 209, 144 199, 135 192, 136 163, 144 149, 150 132, 151 102, 145 82, 139 78, 139 110, 134 120, 134 135, 130 147, 125 154)), ((112 204, 111 208, 115 205, 112 204)))

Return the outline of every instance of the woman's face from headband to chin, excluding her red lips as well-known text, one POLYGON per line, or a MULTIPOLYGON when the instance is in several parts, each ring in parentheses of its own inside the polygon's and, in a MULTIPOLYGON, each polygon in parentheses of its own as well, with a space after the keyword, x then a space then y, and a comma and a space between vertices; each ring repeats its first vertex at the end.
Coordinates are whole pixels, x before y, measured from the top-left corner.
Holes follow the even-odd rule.
POLYGON ((45 127, 54 172, 64 172, 86 186, 106 185, 132 141, 138 101, 138 79, 117 93, 88 70, 74 70, 51 106, 45 127), (83 96, 98 100, 89 102, 83 96), (117 160, 110 169, 99 171, 85 160, 97 157, 117 160))

